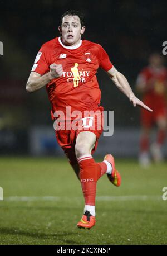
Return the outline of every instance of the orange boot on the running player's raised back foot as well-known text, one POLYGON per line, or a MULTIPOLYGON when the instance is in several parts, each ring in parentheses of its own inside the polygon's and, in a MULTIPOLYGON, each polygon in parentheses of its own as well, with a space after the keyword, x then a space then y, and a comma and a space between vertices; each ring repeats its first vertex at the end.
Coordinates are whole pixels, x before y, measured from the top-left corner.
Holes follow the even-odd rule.
POLYGON ((111 154, 107 154, 105 155, 104 160, 108 161, 112 166, 111 174, 107 174, 109 181, 111 181, 111 183, 116 187, 119 187, 121 184, 121 176, 120 173, 115 169, 114 157, 111 154))

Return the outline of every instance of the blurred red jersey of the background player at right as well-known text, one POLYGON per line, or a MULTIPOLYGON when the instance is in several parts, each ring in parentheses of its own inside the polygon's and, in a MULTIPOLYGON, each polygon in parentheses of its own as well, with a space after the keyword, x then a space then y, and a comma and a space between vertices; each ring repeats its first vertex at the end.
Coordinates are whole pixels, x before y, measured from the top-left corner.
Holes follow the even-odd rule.
POLYGON ((165 107, 166 105, 166 92, 167 92, 167 69, 161 67, 159 69, 152 68, 150 66, 141 70, 137 84, 153 84, 153 87, 149 88, 144 93, 143 101, 154 107, 165 107))

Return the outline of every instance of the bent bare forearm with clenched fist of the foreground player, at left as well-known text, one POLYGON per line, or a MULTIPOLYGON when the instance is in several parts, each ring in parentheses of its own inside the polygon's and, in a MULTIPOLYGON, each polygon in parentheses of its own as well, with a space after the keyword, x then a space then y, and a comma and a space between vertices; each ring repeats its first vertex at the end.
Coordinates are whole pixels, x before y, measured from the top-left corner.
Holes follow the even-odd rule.
POLYGON ((26 90, 28 93, 35 92, 46 86, 53 79, 61 77, 63 75, 63 68, 61 64, 51 64, 50 72, 41 75, 37 72, 31 72, 30 77, 28 78, 26 90))

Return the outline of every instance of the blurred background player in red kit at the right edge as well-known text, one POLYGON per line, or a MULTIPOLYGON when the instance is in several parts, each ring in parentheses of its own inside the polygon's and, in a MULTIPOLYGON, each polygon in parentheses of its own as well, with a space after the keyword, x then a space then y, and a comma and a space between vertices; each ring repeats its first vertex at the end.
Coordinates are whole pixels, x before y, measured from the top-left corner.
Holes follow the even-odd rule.
POLYGON ((158 127, 156 142, 150 146, 155 162, 163 160, 161 146, 164 143, 167 126, 167 69, 163 65, 163 56, 153 53, 149 57, 149 65, 141 70, 137 78, 137 90, 143 94, 143 102, 153 106, 153 112, 141 110, 141 138, 139 163, 148 165, 149 136, 154 125, 158 127))

